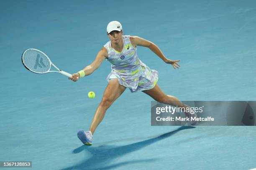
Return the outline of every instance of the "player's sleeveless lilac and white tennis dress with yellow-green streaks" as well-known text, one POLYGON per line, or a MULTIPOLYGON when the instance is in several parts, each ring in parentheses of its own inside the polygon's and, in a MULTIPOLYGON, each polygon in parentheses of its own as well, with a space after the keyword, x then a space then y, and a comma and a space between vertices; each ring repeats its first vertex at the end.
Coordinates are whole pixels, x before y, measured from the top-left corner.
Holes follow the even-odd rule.
POLYGON ((108 50, 108 61, 111 63, 111 72, 107 77, 115 75, 119 84, 128 87, 131 92, 149 90, 156 85, 158 72, 151 70, 137 56, 136 48, 133 47, 129 35, 123 35, 123 50, 116 51, 111 46, 111 41, 104 47, 108 50))

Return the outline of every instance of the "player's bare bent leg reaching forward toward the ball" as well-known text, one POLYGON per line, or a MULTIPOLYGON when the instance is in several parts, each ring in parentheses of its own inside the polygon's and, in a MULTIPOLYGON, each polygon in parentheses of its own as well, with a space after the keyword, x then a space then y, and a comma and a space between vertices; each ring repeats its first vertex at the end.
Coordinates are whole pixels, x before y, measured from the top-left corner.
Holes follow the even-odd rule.
POLYGON ((112 79, 109 81, 90 126, 90 131, 92 132, 92 134, 102 121, 106 110, 125 91, 125 89, 126 87, 119 84, 118 79, 112 79))

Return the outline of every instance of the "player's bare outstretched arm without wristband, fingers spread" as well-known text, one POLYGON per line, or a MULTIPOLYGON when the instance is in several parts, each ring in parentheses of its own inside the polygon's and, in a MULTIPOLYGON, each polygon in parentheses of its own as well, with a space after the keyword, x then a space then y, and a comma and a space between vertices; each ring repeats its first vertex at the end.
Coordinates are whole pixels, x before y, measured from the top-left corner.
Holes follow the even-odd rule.
POLYGON ((167 64, 172 64, 174 69, 179 68, 179 64, 177 63, 180 60, 169 60, 166 58, 163 54, 163 52, 160 50, 159 47, 157 47, 153 42, 148 41, 146 39, 143 39, 138 36, 130 36, 131 43, 133 47, 136 45, 138 46, 143 46, 143 47, 148 47, 151 51, 153 51, 157 56, 159 56, 165 63, 167 64))

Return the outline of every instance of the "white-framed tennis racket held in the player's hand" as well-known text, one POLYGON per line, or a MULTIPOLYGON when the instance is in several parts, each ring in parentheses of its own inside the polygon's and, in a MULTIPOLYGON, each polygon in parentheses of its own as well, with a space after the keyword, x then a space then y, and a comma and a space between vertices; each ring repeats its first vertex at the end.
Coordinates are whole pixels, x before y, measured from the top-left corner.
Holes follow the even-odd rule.
POLYGON ((25 50, 22 53, 21 60, 24 67, 26 67, 26 69, 34 73, 45 74, 48 72, 59 72, 68 77, 72 77, 71 74, 64 72, 62 70, 59 70, 59 68, 56 67, 51 62, 49 57, 44 52, 41 52, 40 50, 37 50, 34 48, 25 50), (52 71, 51 66, 54 66, 57 69, 57 71, 52 71))

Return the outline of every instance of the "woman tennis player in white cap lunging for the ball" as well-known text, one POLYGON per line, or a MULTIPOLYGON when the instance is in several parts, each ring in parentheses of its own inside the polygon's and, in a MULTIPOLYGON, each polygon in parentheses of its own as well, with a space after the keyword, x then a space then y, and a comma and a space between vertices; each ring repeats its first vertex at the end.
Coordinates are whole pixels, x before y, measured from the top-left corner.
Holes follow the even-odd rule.
MULTIPOLYGON (((128 87, 131 92, 142 91, 151 96, 154 100, 182 108, 188 107, 176 97, 166 95, 157 85, 158 72, 151 70, 137 56, 137 46, 148 47, 158 55, 166 64, 170 64, 174 69, 179 68, 180 60, 169 60, 164 56, 159 47, 153 42, 137 36, 123 35, 122 25, 118 21, 111 21, 107 26, 107 34, 110 39, 104 47, 97 53, 95 60, 83 70, 74 73, 69 79, 77 81, 79 78, 92 74, 107 59, 112 66, 111 72, 107 77, 108 85, 104 91, 102 100, 97 107, 89 131, 80 130, 78 138, 85 145, 92 145, 92 135, 102 121, 106 110, 128 87)), ((195 117, 196 114, 185 113, 187 117, 195 117)), ((195 125, 196 121, 190 121, 195 125)))

